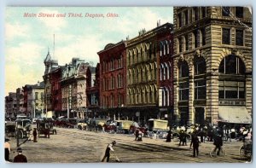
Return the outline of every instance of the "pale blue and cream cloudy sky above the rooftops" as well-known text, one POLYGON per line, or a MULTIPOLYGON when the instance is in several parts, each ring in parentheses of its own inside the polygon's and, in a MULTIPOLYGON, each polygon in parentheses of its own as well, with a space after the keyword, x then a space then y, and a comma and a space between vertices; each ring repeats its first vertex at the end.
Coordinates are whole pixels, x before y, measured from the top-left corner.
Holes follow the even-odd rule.
POLYGON ((99 62, 108 43, 135 38, 143 28, 173 23, 172 7, 7 7, 5 13, 5 96, 43 81, 48 53, 60 66, 73 57, 99 62), (34 17, 27 17, 26 14, 34 17), (45 17, 44 14, 49 14, 45 17), (82 17, 75 17, 81 14, 82 17), (104 17, 88 17, 103 14, 104 17), (112 14, 118 17, 108 17, 112 14), (69 17, 70 16, 70 17, 69 17), (87 16, 87 17, 86 17, 87 16))

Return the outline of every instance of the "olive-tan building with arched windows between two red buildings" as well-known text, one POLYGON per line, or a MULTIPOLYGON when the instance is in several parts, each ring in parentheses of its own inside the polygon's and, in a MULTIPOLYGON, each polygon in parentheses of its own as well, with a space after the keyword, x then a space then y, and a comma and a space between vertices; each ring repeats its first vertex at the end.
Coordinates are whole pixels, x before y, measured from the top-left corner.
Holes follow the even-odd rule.
MULTIPOLYGON (((166 23, 162 26, 158 24, 153 30, 146 32, 143 29, 139 32, 139 36, 127 41, 126 106, 130 108, 130 116, 139 122, 145 123, 150 118, 164 117, 164 113, 160 113, 159 110, 159 102, 162 102, 162 98, 159 97, 159 92, 162 92, 159 76, 162 73, 159 71, 159 66, 160 61, 161 65, 165 65, 169 59, 160 60, 160 43, 167 41, 165 47, 166 52, 169 51, 168 56, 170 57, 170 52, 172 52, 170 49, 171 31, 172 24, 166 23)), ((163 81, 161 81, 161 85, 164 85, 163 81)), ((172 87, 172 84, 169 87, 172 87)))

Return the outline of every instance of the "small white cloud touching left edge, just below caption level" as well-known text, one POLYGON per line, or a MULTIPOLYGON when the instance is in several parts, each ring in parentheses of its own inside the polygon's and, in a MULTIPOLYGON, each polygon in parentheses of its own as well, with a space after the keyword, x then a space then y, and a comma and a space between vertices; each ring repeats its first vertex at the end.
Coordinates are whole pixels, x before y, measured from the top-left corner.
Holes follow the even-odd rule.
POLYGON ((29 34, 30 27, 27 25, 21 25, 18 22, 14 24, 5 24, 5 39, 12 40, 14 38, 26 37, 29 34))

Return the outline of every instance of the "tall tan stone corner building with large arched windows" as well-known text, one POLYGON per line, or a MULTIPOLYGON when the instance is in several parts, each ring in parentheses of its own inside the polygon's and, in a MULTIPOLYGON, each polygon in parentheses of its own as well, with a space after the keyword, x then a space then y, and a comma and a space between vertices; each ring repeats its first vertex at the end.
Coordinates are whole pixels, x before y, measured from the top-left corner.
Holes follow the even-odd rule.
POLYGON ((251 27, 245 7, 174 7, 177 125, 252 122, 251 27))

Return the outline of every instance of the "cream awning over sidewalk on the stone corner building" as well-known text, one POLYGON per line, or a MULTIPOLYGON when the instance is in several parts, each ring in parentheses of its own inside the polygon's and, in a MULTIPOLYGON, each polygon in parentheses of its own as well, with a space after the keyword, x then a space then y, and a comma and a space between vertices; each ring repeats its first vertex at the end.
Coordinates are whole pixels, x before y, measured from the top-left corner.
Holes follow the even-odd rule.
POLYGON ((219 106, 219 121, 236 124, 252 124, 252 117, 243 106, 219 106))

